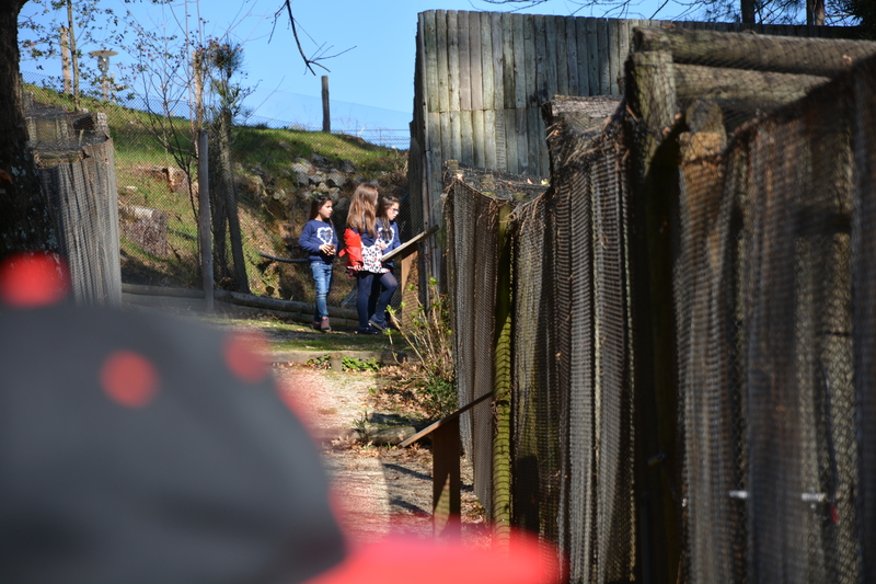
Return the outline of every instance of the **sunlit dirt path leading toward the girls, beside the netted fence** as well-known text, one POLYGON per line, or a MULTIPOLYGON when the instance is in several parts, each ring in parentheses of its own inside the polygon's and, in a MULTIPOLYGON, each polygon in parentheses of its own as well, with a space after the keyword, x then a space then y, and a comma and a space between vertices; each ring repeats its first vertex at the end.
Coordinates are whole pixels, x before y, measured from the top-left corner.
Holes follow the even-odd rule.
MULTIPOLYGON (((431 451, 428 448, 362 446, 332 439, 355 426, 369 408, 376 374, 277 366, 285 391, 302 408, 320 439, 334 500, 348 537, 367 542, 392 534, 431 538, 431 451)), ((464 462, 464 460, 463 460, 464 462)), ((488 533, 463 463, 463 540, 487 545, 488 533)))

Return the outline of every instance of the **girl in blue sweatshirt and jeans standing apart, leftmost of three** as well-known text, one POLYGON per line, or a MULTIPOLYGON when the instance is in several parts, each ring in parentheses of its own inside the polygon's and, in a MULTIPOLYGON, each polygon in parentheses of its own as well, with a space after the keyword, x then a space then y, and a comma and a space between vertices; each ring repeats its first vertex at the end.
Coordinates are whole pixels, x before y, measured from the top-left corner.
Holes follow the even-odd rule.
POLYGON ((335 253, 337 252, 337 234, 332 225, 332 198, 320 195, 310 205, 310 219, 298 245, 308 252, 310 271, 316 285, 316 312, 313 316, 313 328, 318 331, 328 332, 328 290, 332 289, 332 271, 334 268, 335 253))

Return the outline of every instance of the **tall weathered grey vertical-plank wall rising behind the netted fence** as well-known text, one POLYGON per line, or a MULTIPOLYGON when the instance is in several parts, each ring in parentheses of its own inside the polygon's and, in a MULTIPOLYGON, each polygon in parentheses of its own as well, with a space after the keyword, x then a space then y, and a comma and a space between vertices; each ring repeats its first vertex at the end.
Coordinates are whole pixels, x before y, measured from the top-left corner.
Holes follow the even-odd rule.
MULTIPOLYGON (((447 160, 548 176, 541 105, 554 95, 620 95, 624 61, 637 26, 826 37, 849 31, 508 12, 420 12, 408 167, 415 225, 427 229, 441 222, 441 167, 447 160)), ((434 251, 433 273, 439 274, 440 253, 434 251)))

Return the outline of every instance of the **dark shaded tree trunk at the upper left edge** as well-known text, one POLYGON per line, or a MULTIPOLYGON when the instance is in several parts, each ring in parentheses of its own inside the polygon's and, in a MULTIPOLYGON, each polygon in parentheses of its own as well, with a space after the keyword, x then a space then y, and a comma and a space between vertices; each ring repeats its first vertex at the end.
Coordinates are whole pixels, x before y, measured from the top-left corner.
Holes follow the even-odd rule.
POLYGON ((19 12, 25 1, 0 0, 0 257, 58 251, 56 214, 39 188, 22 107, 19 12))

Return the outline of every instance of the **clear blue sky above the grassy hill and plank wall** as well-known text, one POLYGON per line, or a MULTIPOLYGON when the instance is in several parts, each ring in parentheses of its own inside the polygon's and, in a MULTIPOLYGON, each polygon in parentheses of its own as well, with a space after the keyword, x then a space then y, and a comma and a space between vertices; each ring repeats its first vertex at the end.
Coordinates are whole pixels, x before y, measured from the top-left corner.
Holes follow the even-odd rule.
MULTIPOLYGON (((122 5, 118 0, 105 3, 122 5)), ((246 100, 255 116, 321 127, 321 76, 327 75, 333 129, 347 130, 407 128, 413 110, 419 12, 507 10, 480 0, 293 0, 291 5, 306 53, 313 54, 320 44, 325 44, 326 55, 345 51, 323 61, 331 71, 314 68, 316 76, 306 72, 285 11, 274 28, 274 14, 283 7, 281 0, 203 0, 199 8, 208 34, 219 36, 230 28, 232 39, 243 45, 244 69, 249 73, 245 82, 257 83, 257 90, 246 100)), ((650 18, 657 5, 656 0, 642 0, 627 18, 650 18)), ((162 21, 148 3, 135 8, 141 22, 162 21)), ((195 8, 196 2, 189 0, 189 9, 195 8)), ((552 0, 525 12, 568 15, 576 9, 580 7, 552 0)), ((681 10, 680 4, 670 1, 658 18, 671 19, 681 10)), ((27 12, 25 4, 22 14, 27 12)), ((603 15, 601 9, 577 14, 603 15)), ((96 48, 101 47, 81 46, 83 53, 96 48)), ((107 48, 119 51, 112 62, 128 59, 124 47, 107 48)), ((36 66, 22 60, 21 69, 37 72, 36 66)), ((43 64, 38 72, 60 75, 59 59, 43 64)))

